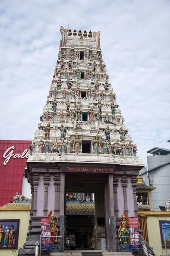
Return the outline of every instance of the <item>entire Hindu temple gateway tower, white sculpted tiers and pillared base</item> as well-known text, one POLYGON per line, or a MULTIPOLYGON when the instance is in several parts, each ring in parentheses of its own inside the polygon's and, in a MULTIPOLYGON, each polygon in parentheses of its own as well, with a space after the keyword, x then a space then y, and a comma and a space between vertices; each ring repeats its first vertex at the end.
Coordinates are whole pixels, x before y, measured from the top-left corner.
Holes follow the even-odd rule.
POLYGON ((106 250, 117 252, 118 222, 123 214, 137 217, 136 176, 144 164, 109 81, 100 32, 72 33, 62 26, 60 32, 54 76, 25 170, 31 221, 19 255, 40 241, 40 218, 49 213, 63 248, 72 231, 80 248, 83 241, 99 250, 103 238, 106 250))

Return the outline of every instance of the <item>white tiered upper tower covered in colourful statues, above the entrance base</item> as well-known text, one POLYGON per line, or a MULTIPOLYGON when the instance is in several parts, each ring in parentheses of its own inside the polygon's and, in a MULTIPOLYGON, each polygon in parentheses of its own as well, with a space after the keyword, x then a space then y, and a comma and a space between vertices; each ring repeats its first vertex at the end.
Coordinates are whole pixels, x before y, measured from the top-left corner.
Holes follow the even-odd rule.
POLYGON ((137 146, 128 135, 109 81, 100 32, 62 26, 60 32, 54 76, 29 154, 36 159, 38 154, 49 154, 46 159, 51 160, 52 154, 61 153, 63 160, 73 153, 99 153, 107 159, 112 154, 109 161, 119 155, 133 157, 126 162, 135 164, 137 146), (83 143, 91 144, 89 151, 83 143))

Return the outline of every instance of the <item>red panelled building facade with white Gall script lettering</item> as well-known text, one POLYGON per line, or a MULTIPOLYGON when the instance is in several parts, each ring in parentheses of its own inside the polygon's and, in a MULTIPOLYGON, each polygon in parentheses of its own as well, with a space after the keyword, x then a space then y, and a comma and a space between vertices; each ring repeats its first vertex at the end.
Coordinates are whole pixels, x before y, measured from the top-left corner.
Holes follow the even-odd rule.
POLYGON ((0 140, 0 206, 22 194, 30 140, 0 140))

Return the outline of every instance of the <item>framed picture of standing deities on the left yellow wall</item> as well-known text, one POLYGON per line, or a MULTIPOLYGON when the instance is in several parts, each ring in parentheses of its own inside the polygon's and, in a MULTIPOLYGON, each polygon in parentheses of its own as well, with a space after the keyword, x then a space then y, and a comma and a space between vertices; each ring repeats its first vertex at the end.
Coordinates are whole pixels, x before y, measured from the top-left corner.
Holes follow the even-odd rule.
POLYGON ((0 219, 0 249, 17 249, 20 220, 0 219))

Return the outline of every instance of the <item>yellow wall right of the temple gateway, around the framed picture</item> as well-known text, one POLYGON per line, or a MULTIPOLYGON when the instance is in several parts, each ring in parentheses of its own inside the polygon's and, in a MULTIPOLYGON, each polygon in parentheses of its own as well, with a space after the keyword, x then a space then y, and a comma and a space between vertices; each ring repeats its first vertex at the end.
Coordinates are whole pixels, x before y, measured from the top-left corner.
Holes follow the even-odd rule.
MULTIPOLYGON (((147 216, 147 232, 149 237, 149 245, 153 247, 156 256, 166 255, 165 249, 161 246, 161 233, 159 221, 170 221, 170 216, 147 216)), ((170 248, 167 249, 167 254, 170 255, 170 248)))

